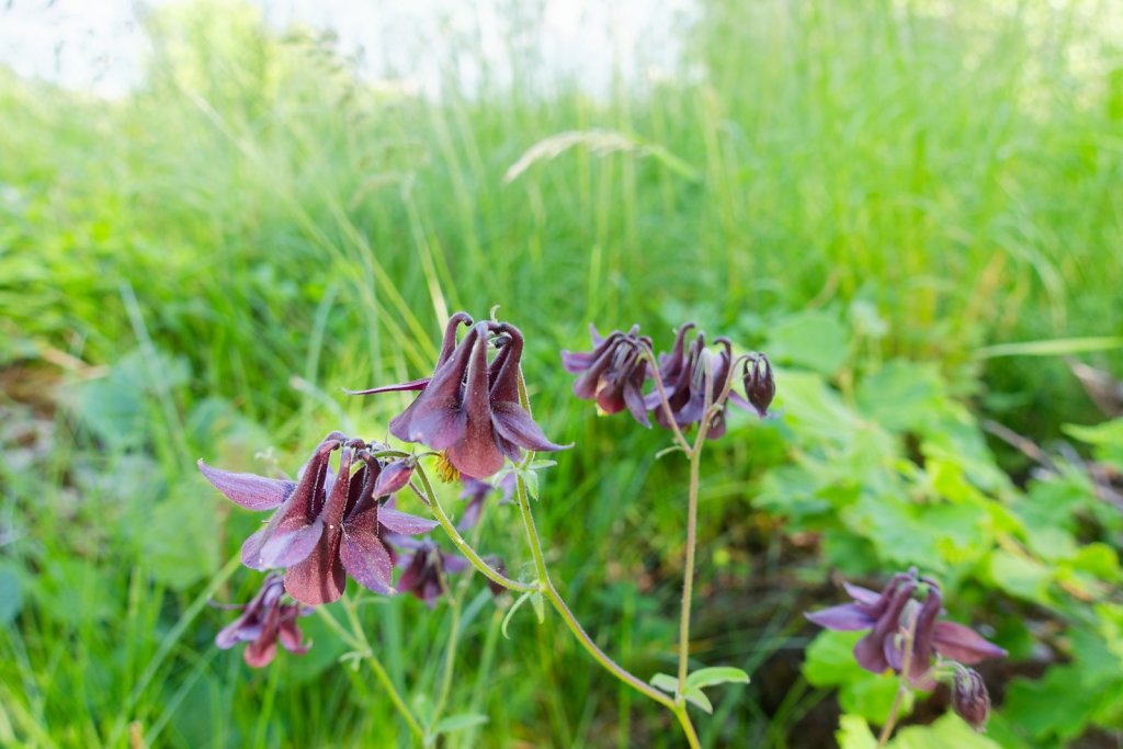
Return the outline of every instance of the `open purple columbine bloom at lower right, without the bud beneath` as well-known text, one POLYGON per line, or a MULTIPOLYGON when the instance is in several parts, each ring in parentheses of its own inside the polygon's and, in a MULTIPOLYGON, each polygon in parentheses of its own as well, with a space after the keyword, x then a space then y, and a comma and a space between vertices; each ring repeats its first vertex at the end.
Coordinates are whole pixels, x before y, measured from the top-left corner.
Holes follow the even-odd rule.
POLYGON ((853 648, 858 665, 868 672, 882 674, 892 668, 900 674, 905 660, 902 642, 910 630, 913 640, 909 679, 923 688, 932 684, 933 651, 968 665, 1006 655, 968 627, 938 621, 943 611, 940 587, 928 577, 917 579, 915 569, 894 575, 880 593, 849 583, 844 587, 853 603, 804 615, 830 630, 870 630, 853 648), (913 599, 919 591, 926 591, 923 602, 913 599))

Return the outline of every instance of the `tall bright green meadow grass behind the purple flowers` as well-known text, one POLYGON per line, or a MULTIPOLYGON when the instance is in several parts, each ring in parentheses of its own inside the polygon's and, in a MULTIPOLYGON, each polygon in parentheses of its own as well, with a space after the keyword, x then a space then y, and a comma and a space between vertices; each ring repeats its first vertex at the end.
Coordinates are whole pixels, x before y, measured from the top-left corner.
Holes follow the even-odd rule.
MULTIPOLYGON (((0 360, 42 383, 30 410, 6 408, 43 432, 0 460, 0 563, 25 581, 18 625, 0 631, 0 743, 405 742, 368 673, 323 669, 343 650, 316 620, 307 658, 262 673, 211 647, 225 615, 204 602, 254 586, 222 573, 256 519, 225 508, 193 460, 259 467, 274 447, 293 471, 331 428, 382 437, 403 401, 339 389, 424 373, 458 309, 501 304, 528 334, 536 414, 579 448, 542 486, 551 563, 597 641, 641 674, 674 657, 685 466, 643 457, 663 435, 569 396, 557 349, 584 346, 590 321, 638 321, 666 344, 691 318, 757 347, 822 310, 861 334, 852 371, 937 362, 1038 437, 1088 417, 1060 360, 976 351, 1123 331, 1110 16, 701 9, 682 70, 606 99, 565 80, 538 92, 519 72, 472 92, 450 76, 439 100, 376 89, 327 42, 216 6, 150 19, 148 76, 121 101, 0 73, 0 360)), ((701 536, 715 540, 697 625, 701 658, 749 672, 801 645, 797 591, 750 587, 778 555, 746 512, 754 449, 776 449, 754 439, 714 450, 703 486, 701 536), (747 538, 764 561, 738 551, 747 538)), ((485 545, 518 566, 508 510, 485 545)), ((504 639, 475 592, 453 704, 490 723, 454 746, 674 746, 667 716, 559 622, 522 612, 504 639)), ((423 703, 444 610, 359 611, 423 703)), ((798 746, 785 733, 810 709, 805 685, 772 715, 760 688, 728 691, 702 721, 707 746, 798 746)))

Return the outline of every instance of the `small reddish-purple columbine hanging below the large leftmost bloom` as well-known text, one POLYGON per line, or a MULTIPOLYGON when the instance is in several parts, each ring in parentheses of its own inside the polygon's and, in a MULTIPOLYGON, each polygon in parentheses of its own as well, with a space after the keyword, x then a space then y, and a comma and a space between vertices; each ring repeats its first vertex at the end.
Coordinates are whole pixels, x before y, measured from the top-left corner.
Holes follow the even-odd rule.
POLYGON ((238 642, 249 642, 243 657, 254 668, 268 666, 277 652, 277 641, 289 652, 303 655, 311 643, 304 643, 304 636, 296 623, 298 616, 312 612, 295 603, 282 603, 284 581, 281 575, 266 575, 262 590, 249 603, 234 606, 241 614, 222 628, 214 638, 214 645, 223 650, 238 642))

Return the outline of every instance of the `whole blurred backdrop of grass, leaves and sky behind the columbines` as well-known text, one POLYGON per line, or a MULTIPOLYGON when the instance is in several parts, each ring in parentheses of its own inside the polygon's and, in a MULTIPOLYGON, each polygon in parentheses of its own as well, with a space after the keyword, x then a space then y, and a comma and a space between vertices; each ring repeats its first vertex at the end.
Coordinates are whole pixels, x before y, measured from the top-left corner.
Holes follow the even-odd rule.
MULTIPOLYGON (((752 676, 705 746, 871 746, 894 679, 802 613, 909 565, 1011 655, 985 737, 940 688, 894 746, 1123 746, 1121 40, 1108 1, 0 3, 0 745, 409 746, 318 618, 264 670, 213 647, 261 518, 194 460, 384 437, 407 400, 340 389, 500 304, 577 444, 537 508, 555 576, 643 677, 686 466, 558 350, 695 320, 779 366, 782 415, 704 468, 692 658, 752 676)), ((510 506, 481 545, 527 561, 510 506)), ((447 609, 363 600, 431 709, 447 609)), ((442 746, 678 746, 509 605, 473 582, 451 705, 490 720, 442 746)))

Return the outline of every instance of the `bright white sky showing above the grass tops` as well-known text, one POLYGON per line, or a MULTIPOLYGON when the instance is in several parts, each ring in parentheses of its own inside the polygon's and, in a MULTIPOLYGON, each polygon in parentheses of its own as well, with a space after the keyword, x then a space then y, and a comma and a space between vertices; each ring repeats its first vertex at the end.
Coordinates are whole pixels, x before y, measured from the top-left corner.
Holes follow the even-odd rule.
MULTIPOLYGON (((334 30, 347 53, 360 53, 368 75, 407 74, 426 90, 455 39, 480 37, 477 48, 502 63, 500 40, 512 9, 536 6, 541 26, 520 39, 546 68, 572 74, 591 93, 606 91, 617 66, 626 77, 675 64, 693 17, 691 0, 245 0, 276 28, 300 22, 334 30), (433 54, 436 53, 436 54, 433 54)), ((24 76, 118 97, 140 76, 145 38, 137 18, 170 0, 0 0, 0 65, 24 76)), ((533 12, 533 11, 531 11, 533 12)), ((462 66, 471 85, 472 71, 462 66)))

